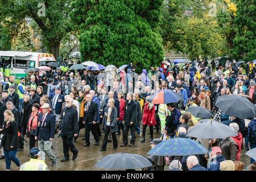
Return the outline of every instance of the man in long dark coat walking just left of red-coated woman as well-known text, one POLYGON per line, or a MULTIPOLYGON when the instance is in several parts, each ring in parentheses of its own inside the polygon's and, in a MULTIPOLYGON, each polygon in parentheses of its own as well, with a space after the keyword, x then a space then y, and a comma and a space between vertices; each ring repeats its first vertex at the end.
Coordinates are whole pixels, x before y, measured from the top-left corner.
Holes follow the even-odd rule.
POLYGON ((131 129, 132 133, 132 139, 131 144, 129 144, 129 147, 134 146, 135 144, 135 123, 137 121, 137 104, 132 100, 132 93, 127 94, 127 101, 125 101, 125 107, 124 107, 124 135, 123 135, 123 143, 120 144, 121 147, 127 147, 128 146, 128 132, 131 129))

